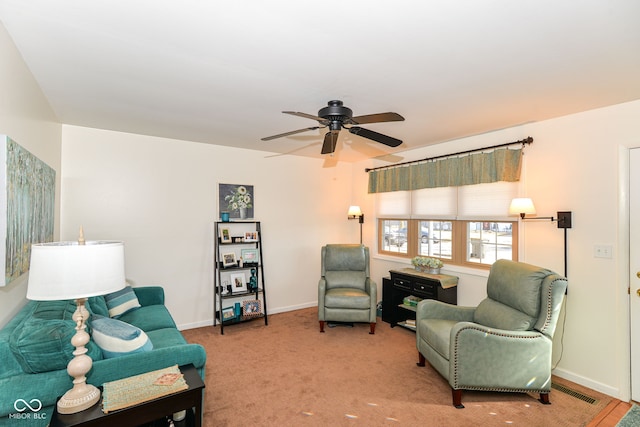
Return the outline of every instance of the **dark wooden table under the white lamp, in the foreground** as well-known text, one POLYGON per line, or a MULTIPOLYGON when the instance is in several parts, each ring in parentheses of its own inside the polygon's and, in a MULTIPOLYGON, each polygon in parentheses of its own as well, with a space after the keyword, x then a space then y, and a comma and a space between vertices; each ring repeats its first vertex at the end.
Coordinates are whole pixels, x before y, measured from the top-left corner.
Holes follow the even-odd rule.
MULTIPOLYGON (((202 394, 204 382, 196 368, 189 364, 180 366, 188 388, 186 390, 163 396, 149 402, 140 403, 125 409, 102 412, 102 398, 91 408, 75 414, 59 414, 56 409, 51 417, 50 427, 68 426, 138 426, 158 420, 174 412, 195 408, 195 425, 202 425, 202 394)), ((102 387, 101 387, 102 389, 102 387)), ((189 417, 188 417, 189 418, 189 417)))

